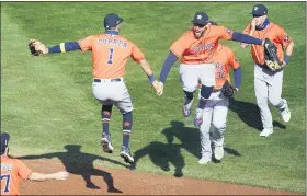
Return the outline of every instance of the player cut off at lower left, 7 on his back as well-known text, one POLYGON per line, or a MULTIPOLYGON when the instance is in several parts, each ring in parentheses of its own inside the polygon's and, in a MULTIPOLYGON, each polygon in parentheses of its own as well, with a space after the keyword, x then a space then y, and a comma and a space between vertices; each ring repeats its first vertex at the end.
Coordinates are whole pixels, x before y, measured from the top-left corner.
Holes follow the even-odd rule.
POLYGON ((31 171, 22 161, 9 155, 10 135, 1 134, 1 195, 20 195, 19 184, 21 180, 46 181, 66 180, 67 172, 43 174, 31 171))

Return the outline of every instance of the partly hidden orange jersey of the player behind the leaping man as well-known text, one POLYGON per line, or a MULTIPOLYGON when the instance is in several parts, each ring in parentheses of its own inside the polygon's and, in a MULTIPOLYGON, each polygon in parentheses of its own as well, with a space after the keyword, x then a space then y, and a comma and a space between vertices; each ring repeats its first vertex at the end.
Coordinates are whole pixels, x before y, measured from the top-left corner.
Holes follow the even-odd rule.
POLYGON ((235 57, 235 53, 227 46, 218 44, 216 54, 213 57, 215 66, 215 87, 218 90, 223 87, 226 80, 230 82, 229 67, 238 69, 240 64, 235 57))

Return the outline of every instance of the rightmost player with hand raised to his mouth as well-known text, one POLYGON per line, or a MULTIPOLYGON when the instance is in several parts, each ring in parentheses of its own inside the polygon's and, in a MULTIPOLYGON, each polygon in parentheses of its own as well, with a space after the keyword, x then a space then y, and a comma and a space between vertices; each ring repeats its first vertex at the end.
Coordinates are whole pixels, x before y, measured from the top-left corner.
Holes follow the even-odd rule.
MULTIPOLYGON (((253 7, 251 14, 253 19, 245 28, 243 33, 259 38, 270 38, 277 48, 277 57, 283 62, 284 67, 289 61, 292 56, 294 42, 285 30, 269 21, 268 8, 263 4, 253 7), (284 49, 286 55, 284 56, 284 49)), ((247 44, 241 44, 246 48, 247 44)), ((263 46, 251 46, 252 58, 254 60, 254 93, 257 104, 260 108, 263 130, 260 136, 268 137, 273 134, 272 114, 268 105, 268 100, 280 109, 284 122, 289 122, 291 111, 287 101, 282 99, 283 89, 283 68, 277 71, 268 69, 264 62, 263 46)))

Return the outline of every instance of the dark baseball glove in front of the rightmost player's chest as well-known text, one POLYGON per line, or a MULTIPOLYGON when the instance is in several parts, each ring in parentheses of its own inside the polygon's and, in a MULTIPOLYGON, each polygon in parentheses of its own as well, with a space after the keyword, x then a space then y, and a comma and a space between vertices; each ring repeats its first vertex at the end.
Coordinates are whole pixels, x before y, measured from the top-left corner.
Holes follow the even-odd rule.
POLYGON ((264 61, 272 71, 277 71, 282 68, 282 62, 277 57, 277 48, 269 38, 264 41, 264 61))

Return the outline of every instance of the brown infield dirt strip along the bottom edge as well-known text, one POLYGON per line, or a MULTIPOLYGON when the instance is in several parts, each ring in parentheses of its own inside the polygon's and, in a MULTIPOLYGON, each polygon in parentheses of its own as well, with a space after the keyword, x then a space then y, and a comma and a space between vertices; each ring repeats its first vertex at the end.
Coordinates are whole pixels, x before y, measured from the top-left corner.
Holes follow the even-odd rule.
MULTIPOLYGON (((33 171, 64 171, 60 161, 23 160, 33 171)), ((70 173, 66 181, 23 182, 22 195, 299 195, 268 188, 201 181, 189 177, 156 175, 130 170, 95 168, 70 173), (107 192, 107 183, 111 187, 107 192), (88 182, 88 183, 86 183, 88 182), (87 187, 88 184, 88 187, 87 187), (113 193, 112 193, 113 192, 113 193), (117 193, 114 193, 117 192, 117 193), (122 193, 120 193, 122 192, 122 193)), ((300 194, 302 195, 302 194, 300 194)))

